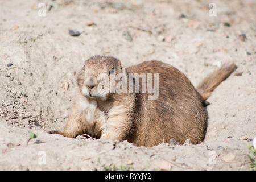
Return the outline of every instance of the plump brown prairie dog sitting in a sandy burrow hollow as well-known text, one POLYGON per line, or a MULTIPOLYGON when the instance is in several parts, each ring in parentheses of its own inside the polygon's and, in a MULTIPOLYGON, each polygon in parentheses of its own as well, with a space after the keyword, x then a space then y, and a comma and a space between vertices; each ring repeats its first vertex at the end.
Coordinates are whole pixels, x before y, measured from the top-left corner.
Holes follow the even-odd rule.
POLYGON ((73 108, 65 129, 55 133, 70 138, 88 134, 147 147, 169 142, 171 138, 181 144, 186 139, 198 144, 203 142, 207 127, 204 101, 235 67, 234 63, 224 65, 205 78, 197 91, 183 73, 161 61, 145 61, 123 68, 114 57, 90 57, 77 76, 73 108), (113 82, 111 76, 122 75, 128 80, 129 73, 158 73, 159 85, 154 84, 159 88, 158 97, 148 99, 152 93, 142 93, 142 84, 139 93, 104 92, 99 89, 102 85, 97 79, 102 73, 108 75, 105 78, 114 86, 120 80, 113 82))

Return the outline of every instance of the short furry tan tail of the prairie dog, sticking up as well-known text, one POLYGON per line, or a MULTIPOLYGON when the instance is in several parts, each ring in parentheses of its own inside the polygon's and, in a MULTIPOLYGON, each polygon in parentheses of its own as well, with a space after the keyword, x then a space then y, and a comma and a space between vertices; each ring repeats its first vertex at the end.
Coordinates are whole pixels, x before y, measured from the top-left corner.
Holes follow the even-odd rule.
POLYGON ((208 75, 204 80, 197 86, 197 92, 201 95, 201 100, 205 101, 210 97, 211 92, 224 81, 236 68, 234 63, 226 63, 222 65, 216 72, 208 75))

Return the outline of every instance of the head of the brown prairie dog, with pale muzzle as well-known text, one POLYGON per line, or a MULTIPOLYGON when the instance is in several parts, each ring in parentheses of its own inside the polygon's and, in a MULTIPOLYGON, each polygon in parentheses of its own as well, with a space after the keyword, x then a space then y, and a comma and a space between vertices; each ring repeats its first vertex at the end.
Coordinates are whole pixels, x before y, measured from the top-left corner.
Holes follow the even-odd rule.
POLYGON ((115 89, 116 76, 126 76, 125 68, 114 57, 93 56, 84 62, 77 76, 77 85, 83 96, 90 99, 106 100, 115 89), (114 77, 114 79, 113 79, 114 77))

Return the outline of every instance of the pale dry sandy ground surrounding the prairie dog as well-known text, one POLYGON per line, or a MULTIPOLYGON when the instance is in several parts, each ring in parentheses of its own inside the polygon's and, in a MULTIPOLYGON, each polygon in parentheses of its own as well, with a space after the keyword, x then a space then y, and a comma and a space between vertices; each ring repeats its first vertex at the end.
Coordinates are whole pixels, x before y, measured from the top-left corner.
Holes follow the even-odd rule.
POLYGON ((246 142, 256 134, 255 9, 253 0, 1 1, 0 169, 159 170, 166 163, 172 170, 249 170, 246 142), (210 2, 216 17, 208 15, 210 2), (38 15, 39 3, 46 4, 45 17, 38 15), (226 61, 237 69, 208 99, 207 134, 196 146, 147 148, 47 134, 64 128, 76 72, 96 54, 125 66, 161 60, 194 85, 226 61), (38 137, 27 144, 28 131, 38 137))

